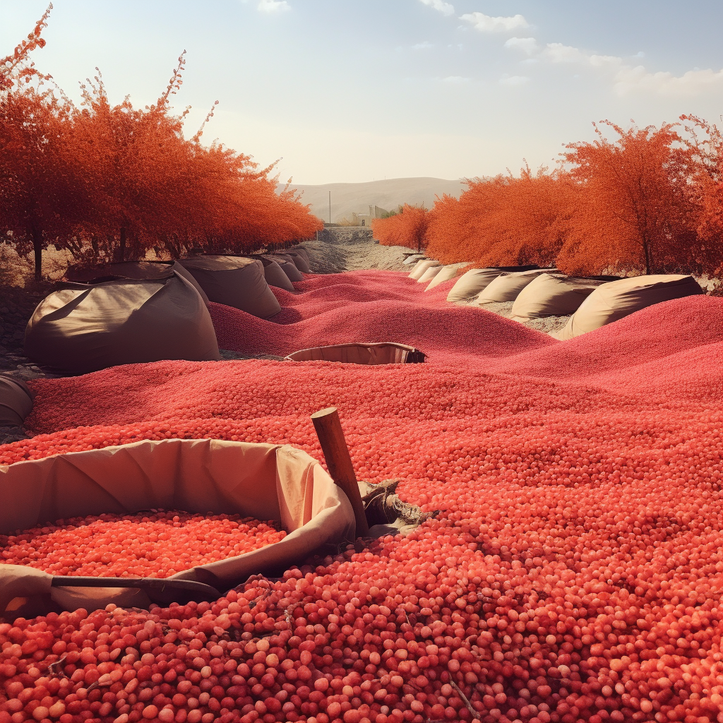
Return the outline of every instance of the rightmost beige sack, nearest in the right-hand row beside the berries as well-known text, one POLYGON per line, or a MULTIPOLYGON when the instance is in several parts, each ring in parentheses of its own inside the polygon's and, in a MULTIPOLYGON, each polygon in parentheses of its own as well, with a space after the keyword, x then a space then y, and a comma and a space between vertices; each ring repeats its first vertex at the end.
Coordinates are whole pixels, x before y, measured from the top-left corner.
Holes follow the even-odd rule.
POLYGON ((703 289, 688 275, 656 274, 610 281, 596 288, 567 325, 552 336, 563 341, 571 339, 661 301, 694 294, 703 294, 703 289))

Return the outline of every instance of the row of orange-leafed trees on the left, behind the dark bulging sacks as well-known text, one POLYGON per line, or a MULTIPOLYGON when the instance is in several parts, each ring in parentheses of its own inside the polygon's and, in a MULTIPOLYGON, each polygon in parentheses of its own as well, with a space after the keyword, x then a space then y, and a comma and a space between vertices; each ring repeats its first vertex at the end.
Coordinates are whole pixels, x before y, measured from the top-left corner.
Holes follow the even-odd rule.
POLYGON ((100 71, 81 85, 75 106, 29 58, 45 44, 51 8, 0 60, 0 239, 20 254, 32 250, 36 277, 49 245, 103 262, 151 249, 160 257, 248 252, 322 228, 288 185, 276 192, 273 165, 202 145, 203 126, 184 137, 188 109, 174 115, 170 106, 183 54, 153 106, 134 108, 129 98, 112 105, 100 71))

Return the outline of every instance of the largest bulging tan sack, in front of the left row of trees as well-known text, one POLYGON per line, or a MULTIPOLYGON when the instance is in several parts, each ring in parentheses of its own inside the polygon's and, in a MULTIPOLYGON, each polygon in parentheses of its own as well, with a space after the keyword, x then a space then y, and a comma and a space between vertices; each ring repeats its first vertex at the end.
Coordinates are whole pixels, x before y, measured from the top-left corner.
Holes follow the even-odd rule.
POLYGON ((54 291, 27 322, 25 354, 67 374, 161 359, 220 358, 203 299, 176 273, 158 281, 119 279, 54 291))

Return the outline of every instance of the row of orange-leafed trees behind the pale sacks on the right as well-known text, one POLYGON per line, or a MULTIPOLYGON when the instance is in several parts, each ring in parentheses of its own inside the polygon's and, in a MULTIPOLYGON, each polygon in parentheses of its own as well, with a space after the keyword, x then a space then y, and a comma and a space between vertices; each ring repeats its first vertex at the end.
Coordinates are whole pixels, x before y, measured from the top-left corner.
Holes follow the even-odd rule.
POLYGON ((536 263, 567 273, 723 274, 723 138, 693 116, 660 128, 596 125, 554 171, 471 179, 432 210, 374 221, 382 244, 445 263, 536 263))

